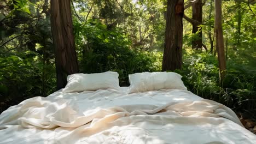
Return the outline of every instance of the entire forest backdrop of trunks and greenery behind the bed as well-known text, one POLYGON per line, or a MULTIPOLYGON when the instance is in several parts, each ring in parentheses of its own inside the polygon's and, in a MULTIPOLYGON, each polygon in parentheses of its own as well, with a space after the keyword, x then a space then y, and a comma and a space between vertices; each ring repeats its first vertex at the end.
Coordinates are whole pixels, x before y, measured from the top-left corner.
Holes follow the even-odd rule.
POLYGON ((65 87, 73 73, 117 71, 129 86, 129 74, 174 71, 194 94, 255 119, 255 3, 1 1, 0 113, 65 87))

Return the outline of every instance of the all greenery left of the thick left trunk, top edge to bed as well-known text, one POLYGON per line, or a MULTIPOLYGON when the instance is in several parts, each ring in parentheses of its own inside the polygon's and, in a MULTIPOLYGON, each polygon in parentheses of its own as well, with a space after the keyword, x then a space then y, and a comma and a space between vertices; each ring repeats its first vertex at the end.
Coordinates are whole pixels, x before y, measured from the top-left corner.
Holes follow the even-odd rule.
POLYGON ((0 2, 0 112, 24 99, 55 91, 48 4, 38 0, 0 2))

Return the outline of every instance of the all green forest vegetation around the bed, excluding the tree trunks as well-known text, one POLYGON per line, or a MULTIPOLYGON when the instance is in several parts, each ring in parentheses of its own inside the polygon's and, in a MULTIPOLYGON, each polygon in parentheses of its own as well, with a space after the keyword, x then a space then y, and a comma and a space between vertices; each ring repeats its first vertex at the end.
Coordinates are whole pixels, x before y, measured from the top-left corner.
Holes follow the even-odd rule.
MULTIPOLYGON (((71 1, 75 47, 81 73, 107 70, 127 76, 161 71, 166 1, 71 1)), ((185 1, 186 3, 187 1, 185 1)), ((219 82, 214 39, 214 1, 202 1, 200 31, 183 19, 183 76, 188 89, 256 117, 255 1, 223 1, 226 77, 219 82), (202 32, 203 47, 193 47, 202 32)), ((49 0, 0 2, 0 111, 56 90, 49 0)), ((185 9, 192 17, 192 8, 185 9)))

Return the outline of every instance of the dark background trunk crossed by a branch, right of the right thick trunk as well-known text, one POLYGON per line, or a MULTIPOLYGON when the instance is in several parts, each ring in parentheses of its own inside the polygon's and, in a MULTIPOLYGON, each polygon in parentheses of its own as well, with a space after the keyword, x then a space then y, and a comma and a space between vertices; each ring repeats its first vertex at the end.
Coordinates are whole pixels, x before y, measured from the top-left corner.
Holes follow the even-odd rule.
MULTIPOLYGON (((202 23, 202 6, 201 0, 192 5, 192 19, 200 23, 202 23)), ((202 29, 199 25, 195 25, 195 23, 192 23, 192 25, 192 33, 197 35, 197 38, 192 40, 192 48, 202 49, 202 29)))

